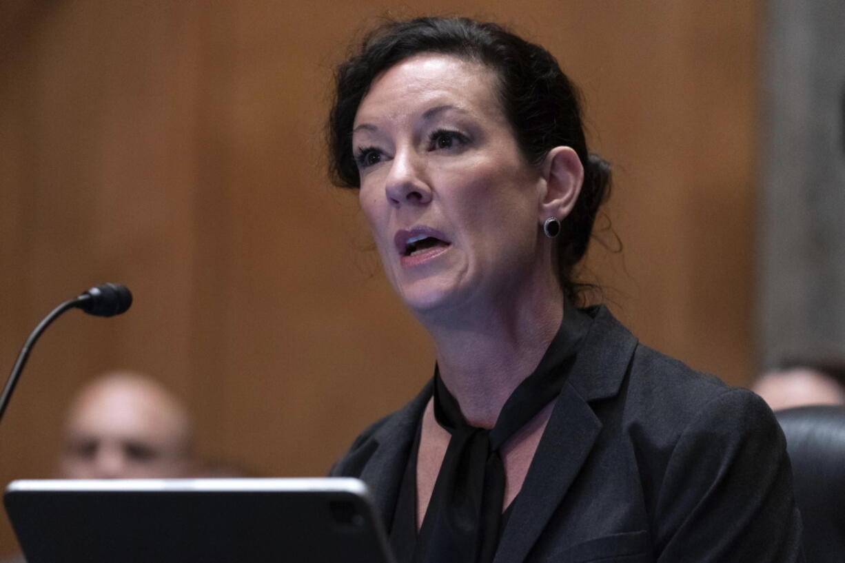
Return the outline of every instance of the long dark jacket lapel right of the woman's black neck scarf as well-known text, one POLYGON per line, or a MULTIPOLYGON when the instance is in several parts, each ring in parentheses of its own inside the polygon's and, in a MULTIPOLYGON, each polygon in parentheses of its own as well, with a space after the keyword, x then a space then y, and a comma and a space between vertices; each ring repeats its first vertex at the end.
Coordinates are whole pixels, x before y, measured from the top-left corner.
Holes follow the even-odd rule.
POLYGON ((493 563, 526 559, 549 518, 581 471, 602 429, 589 402, 615 396, 637 341, 607 309, 598 307, 560 391, 493 563))

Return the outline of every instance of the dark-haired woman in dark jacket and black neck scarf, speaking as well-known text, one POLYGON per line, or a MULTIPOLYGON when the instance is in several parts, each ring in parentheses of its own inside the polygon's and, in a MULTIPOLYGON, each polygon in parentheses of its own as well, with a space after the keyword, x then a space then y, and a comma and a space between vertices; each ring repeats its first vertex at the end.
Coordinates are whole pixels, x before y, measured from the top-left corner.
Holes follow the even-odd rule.
POLYGON ((370 485, 397 559, 799 560, 766 406, 574 305, 609 173, 554 58, 414 19, 373 31, 336 87, 332 171, 437 353, 332 472, 370 485))

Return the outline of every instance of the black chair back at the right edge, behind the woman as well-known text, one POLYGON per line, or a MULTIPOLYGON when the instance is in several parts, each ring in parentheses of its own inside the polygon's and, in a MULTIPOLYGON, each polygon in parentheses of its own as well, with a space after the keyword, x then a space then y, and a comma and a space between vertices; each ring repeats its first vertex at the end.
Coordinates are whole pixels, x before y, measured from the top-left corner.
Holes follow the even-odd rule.
POLYGON ((845 561, 845 407, 775 413, 792 460, 807 563, 845 561))

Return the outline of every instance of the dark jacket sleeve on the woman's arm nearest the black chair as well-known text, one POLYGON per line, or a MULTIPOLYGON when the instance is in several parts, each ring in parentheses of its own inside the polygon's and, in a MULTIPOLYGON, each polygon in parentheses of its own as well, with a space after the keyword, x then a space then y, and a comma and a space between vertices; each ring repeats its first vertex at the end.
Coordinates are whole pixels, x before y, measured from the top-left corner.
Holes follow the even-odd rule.
POLYGON ((663 559, 709 544, 712 560, 797 560, 786 441, 760 396, 640 346, 624 402, 663 559))

